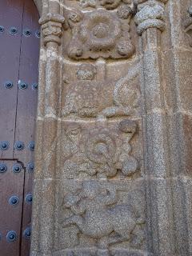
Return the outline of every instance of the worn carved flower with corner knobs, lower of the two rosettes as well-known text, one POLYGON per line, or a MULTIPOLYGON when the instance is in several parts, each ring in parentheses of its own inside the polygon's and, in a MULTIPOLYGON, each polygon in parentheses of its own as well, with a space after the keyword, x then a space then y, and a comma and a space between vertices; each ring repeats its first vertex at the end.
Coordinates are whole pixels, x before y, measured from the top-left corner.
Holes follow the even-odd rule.
POLYGON ((124 176, 136 173, 138 161, 130 155, 130 140, 135 132, 136 123, 128 119, 110 128, 82 128, 72 122, 66 126, 64 177, 110 178, 118 171, 124 176))

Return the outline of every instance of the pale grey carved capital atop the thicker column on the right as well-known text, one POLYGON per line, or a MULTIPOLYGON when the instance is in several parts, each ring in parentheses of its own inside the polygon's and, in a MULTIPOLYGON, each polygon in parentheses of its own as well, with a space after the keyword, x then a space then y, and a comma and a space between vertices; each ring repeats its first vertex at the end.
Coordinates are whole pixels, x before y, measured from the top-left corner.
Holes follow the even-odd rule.
POLYGON ((149 28, 157 28, 165 30, 165 10, 164 4, 167 0, 137 0, 135 3, 138 6, 138 12, 135 15, 135 23, 138 25, 138 34, 149 28))

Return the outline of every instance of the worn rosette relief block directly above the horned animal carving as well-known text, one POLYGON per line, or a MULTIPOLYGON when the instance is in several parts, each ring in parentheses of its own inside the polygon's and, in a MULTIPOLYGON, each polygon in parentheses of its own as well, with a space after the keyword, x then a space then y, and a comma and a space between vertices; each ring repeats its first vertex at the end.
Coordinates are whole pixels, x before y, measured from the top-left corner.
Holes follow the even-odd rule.
POLYGON ((109 122, 63 122, 59 178, 141 177, 138 126, 128 118, 109 122))

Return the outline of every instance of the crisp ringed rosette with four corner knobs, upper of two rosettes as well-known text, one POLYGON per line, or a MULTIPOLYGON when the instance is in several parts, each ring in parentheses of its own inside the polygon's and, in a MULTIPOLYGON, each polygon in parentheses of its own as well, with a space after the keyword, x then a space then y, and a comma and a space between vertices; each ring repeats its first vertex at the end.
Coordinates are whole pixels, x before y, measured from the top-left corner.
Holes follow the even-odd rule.
MULTIPOLYGON (((130 14, 130 13, 129 13, 130 14)), ((83 14, 70 10, 67 15, 72 38, 67 54, 74 59, 129 58, 134 54, 130 40, 129 14, 94 10, 83 14), (118 17, 120 16, 120 18, 118 17)))

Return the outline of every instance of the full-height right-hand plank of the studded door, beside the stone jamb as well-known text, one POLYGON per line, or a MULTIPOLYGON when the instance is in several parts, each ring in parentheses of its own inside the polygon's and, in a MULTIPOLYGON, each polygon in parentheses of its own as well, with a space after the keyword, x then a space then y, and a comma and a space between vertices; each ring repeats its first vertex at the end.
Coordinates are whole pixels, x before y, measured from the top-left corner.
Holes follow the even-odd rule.
POLYGON ((23 22, 22 22, 22 44, 19 68, 19 81, 26 83, 27 88, 18 89, 18 108, 15 129, 15 143, 23 142, 23 150, 14 150, 14 158, 19 158, 26 166, 24 202, 22 217, 22 250, 21 256, 28 255, 30 250, 30 239, 25 232, 30 234, 30 218, 32 204, 27 201, 32 194, 33 171, 30 165, 34 162, 34 124, 36 115, 36 106, 38 91, 35 86, 38 85, 38 12, 34 2, 25 1, 23 22), (30 35, 28 35, 30 34, 30 35), (34 88, 35 87, 35 88, 34 88), (25 124, 25 125, 23 125, 25 124))

